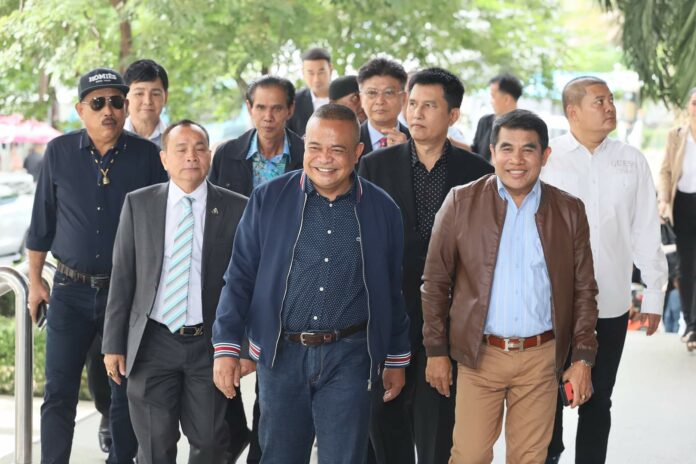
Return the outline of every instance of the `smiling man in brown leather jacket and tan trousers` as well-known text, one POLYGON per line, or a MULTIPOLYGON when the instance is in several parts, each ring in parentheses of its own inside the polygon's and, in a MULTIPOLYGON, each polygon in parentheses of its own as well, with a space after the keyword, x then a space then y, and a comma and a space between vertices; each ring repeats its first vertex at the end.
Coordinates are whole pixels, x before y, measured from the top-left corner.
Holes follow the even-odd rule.
POLYGON ((507 461, 543 463, 559 377, 592 395, 597 284, 582 202, 542 183, 546 124, 515 110, 491 133, 495 175, 447 195, 423 275, 426 380, 450 394, 452 463, 489 463, 507 405, 507 461), (563 364, 572 346, 572 364, 563 364))

